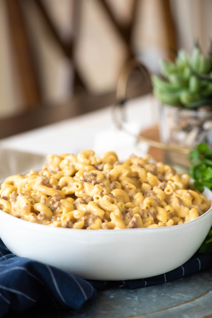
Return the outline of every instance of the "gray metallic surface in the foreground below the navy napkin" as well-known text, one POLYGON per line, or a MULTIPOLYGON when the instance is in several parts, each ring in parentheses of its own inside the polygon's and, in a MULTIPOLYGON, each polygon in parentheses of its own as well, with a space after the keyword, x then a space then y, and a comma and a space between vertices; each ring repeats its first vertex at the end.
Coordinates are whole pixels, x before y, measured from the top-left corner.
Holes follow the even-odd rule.
POLYGON ((78 310, 31 308, 5 318, 209 318, 212 317, 212 269, 166 284, 133 290, 110 288, 78 310))

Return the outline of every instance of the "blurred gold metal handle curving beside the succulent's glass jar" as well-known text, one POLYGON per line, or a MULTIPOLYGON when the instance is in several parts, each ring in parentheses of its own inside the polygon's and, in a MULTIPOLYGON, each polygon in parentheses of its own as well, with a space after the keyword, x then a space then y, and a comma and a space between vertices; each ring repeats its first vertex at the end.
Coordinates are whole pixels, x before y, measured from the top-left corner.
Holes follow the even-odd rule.
POLYGON ((124 128, 123 123, 126 121, 126 116, 124 113, 124 105, 127 101, 127 84, 129 81, 129 77, 131 73, 138 69, 143 76, 144 80, 150 81, 150 75, 147 70, 147 68, 140 63, 137 60, 130 60, 121 70, 118 82, 117 82, 117 89, 116 89, 116 103, 113 106, 113 121, 117 128, 122 129, 127 134, 134 136, 138 141, 146 142, 148 145, 163 149, 163 150, 169 150, 174 151, 176 153, 188 155, 190 152, 190 149, 186 148, 177 148, 168 144, 165 144, 163 142, 158 142, 152 139, 149 139, 147 137, 144 137, 142 135, 135 135, 131 133, 130 131, 127 131, 126 128, 124 128))

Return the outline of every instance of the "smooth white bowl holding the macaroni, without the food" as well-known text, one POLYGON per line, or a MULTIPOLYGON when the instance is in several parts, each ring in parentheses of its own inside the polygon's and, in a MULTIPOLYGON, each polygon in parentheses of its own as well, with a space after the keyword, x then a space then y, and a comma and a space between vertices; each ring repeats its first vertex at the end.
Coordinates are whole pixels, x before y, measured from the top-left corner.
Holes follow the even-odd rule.
MULTIPOLYGON (((203 193, 212 201, 212 192, 203 193)), ((50 227, 0 211, 0 237, 12 253, 94 280, 159 275, 185 263, 212 224, 212 207, 182 225, 124 230, 50 227)))

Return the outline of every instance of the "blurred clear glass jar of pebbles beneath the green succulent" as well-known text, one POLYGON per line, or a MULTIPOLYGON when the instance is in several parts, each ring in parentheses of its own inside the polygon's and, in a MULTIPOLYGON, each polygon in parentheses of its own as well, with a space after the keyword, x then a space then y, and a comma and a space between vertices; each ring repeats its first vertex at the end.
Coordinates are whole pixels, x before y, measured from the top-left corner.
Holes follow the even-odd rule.
MULTIPOLYGON (((196 110, 185 107, 161 105, 160 111, 161 141, 173 147, 193 149, 201 142, 212 147, 212 106, 201 106, 196 110)), ((174 151, 166 151, 168 164, 188 170, 188 156, 174 151)))

